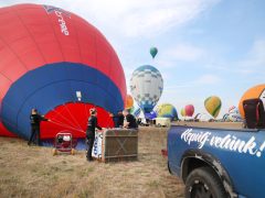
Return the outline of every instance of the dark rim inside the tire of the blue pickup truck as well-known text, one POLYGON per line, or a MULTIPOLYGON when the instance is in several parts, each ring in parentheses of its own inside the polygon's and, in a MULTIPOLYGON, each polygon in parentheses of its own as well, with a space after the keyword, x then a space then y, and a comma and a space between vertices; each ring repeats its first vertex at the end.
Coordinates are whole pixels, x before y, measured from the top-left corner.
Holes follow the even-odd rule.
POLYGON ((208 185, 195 180, 191 187, 191 198, 213 198, 212 191, 209 189, 208 185))

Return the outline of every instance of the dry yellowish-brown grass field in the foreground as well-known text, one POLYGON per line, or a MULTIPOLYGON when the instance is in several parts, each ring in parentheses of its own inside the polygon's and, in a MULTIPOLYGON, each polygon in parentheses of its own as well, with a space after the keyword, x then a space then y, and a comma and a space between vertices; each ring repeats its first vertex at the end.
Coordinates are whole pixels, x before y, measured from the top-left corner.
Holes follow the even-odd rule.
POLYGON ((167 129, 141 128, 137 162, 88 163, 85 152, 52 156, 52 148, 0 138, 0 197, 183 197, 183 185, 161 156, 167 129))

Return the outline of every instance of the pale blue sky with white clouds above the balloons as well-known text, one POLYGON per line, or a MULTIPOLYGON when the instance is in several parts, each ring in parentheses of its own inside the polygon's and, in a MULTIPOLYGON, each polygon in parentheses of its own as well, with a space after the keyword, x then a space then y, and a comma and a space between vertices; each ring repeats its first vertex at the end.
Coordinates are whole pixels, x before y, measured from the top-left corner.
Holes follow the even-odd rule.
POLYGON ((243 92, 265 76, 264 0, 1 0, 52 4, 99 29, 116 50, 127 77, 151 64, 162 74, 159 102, 203 112, 206 97, 237 106, 243 92), (159 53, 155 61, 150 46, 159 53))

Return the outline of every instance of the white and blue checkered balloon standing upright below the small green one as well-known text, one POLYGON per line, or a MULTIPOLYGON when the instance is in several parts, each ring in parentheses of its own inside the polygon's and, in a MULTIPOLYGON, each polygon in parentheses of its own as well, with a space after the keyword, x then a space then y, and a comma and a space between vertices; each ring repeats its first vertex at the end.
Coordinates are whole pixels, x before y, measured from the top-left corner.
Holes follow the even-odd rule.
POLYGON ((149 113, 157 105, 163 90, 163 79, 151 65, 138 67, 130 78, 130 92, 144 113, 149 113))

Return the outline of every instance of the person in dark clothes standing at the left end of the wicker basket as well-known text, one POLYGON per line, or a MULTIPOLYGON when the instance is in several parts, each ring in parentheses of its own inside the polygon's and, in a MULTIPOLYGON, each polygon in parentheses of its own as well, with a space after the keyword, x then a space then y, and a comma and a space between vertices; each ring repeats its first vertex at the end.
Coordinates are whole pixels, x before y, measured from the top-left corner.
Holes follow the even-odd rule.
POLYGON ((96 128, 102 130, 102 128, 97 124, 97 111, 96 109, 91 109, 91 117, 88 118, 87 130, 86 130, 86 142, 87 142, 87 161, 93 161, 92 158, 92 150, 95 141, 95 131, 96 128))

